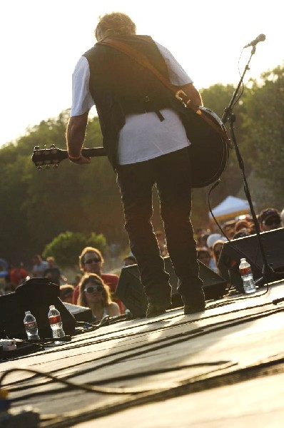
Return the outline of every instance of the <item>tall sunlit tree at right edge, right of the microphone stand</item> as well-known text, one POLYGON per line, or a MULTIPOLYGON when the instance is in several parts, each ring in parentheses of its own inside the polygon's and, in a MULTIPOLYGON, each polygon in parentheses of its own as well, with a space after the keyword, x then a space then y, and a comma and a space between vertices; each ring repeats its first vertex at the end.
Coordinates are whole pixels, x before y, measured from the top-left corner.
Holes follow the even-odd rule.
MULTIPOLYGON (((245 94, 243 133, 245 156, 255 175, 270 189, 260 209, 273 205, 283 208, 284 181, 284 66, 262 73, 260 81, 250 82, 245 94)), ((261 195, 263 189, 255 187, 261 195)))

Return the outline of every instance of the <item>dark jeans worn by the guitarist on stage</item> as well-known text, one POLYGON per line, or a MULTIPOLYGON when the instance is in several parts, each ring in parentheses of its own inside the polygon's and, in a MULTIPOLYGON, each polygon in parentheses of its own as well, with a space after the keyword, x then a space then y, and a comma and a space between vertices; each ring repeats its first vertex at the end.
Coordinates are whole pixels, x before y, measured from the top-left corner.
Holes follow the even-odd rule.
POLYGON ((198 276, 196 242, 191 225, 191 171, 188 149, 168 153, 150 161, 118 165, 117 180, 121 190, 130 247, 135 255, 141 282, 152 303, 168 305, 171 286, 163 258, 153 233, 152 190, 156 183, 161 218, 166 233, 168 253, 179 279, 178 292, 190 298, 201 289, 198 276))

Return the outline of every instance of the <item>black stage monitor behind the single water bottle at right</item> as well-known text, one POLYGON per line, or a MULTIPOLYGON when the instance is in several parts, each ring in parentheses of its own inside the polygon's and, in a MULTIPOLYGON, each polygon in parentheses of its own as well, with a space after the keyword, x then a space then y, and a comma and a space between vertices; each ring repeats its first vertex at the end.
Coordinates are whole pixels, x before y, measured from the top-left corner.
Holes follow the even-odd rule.
MULTIPOLYGON (((261 232, 260 239, 268 264, 273 267, 275 272, 283 272, 284 228, 261 232)), ((218 262, 220 274, 238 291, 243 291, 243 282, 238 270, 241 258, 245 258, 250 263, 255 280, 262 277, 263 256, 260 252, 257 235, 249 235, 225 242, 220 253, 218 262)))

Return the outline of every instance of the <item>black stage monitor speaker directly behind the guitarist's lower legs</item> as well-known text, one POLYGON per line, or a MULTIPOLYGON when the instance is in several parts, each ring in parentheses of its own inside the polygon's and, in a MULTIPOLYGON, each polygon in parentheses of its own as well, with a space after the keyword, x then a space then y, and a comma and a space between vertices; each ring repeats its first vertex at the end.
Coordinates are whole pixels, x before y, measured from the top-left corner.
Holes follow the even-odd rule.
MULTIPOLYGON (((170 275, 172 287, 172 307, 183 306, 181 295, 178 294, 178 277, 176 276, 171 259, 164 258, 166 272, 170 275)), ((218 299, 225 294, 227 281, 220 277, 203 263, 199 263, 200 277, 203 280, 203 290, 206 300, 218 299)), ((147 297, 140 281, 137 265, 123 267, 116 287, 116 295, 131 311, 134 317, 143 317, 148 305, 147 297)))

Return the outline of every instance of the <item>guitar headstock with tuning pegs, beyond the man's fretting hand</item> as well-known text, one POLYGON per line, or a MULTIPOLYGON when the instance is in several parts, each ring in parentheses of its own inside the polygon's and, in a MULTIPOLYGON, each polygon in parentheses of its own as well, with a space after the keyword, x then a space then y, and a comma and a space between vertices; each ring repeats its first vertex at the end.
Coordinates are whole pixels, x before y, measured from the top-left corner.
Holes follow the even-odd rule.
POLYGON ((50 148, 35 146, 33 155, 31 156, 31 160, 38 170, 43 168, 49 169, 51 166, 56 168, 66 158, 68 158, 67 151, 56 148, 54 144, 51 144, 50 148))

